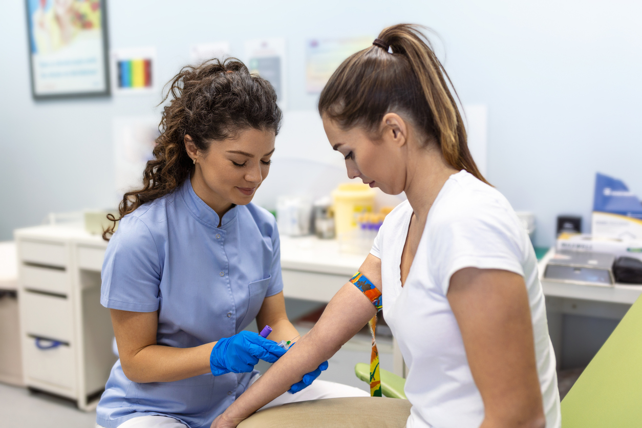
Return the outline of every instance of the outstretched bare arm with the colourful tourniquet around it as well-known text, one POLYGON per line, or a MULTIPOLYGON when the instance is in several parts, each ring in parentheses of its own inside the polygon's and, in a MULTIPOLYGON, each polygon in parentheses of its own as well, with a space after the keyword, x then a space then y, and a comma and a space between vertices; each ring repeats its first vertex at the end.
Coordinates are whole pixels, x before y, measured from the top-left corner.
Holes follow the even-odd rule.
MULTIPOLYGON (((368 255, 360 268, 381 289, 381 260, 368 255)), ((236 427, 243 419, 279 397, 303 375, 334 355, 377 313, 376 308, 351 282, 334 295, 320 320, 297 346, 288 350, 250 388, 214 420, 213 427, 236 427)))

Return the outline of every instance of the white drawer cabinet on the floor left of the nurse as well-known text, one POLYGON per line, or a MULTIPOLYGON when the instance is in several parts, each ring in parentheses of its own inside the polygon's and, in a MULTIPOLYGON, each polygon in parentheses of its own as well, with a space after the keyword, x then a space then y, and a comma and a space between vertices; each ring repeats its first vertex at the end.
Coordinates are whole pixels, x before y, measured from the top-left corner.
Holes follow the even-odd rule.
POLYGON ((116 361, 100 305, 107 243, 80 228, 15 230, 24 384, 96 407, 116 361))

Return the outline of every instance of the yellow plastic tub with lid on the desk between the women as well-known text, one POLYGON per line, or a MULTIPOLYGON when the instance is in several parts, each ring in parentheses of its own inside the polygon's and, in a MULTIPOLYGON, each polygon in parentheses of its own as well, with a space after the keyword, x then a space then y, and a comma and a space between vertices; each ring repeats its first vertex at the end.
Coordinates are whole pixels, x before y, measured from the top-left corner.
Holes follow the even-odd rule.
POLYGON ((340 184, 332 192, 334 232, 337 236, 356 228, 357 217, 374 208, 374 189, 362 183, 340 184))

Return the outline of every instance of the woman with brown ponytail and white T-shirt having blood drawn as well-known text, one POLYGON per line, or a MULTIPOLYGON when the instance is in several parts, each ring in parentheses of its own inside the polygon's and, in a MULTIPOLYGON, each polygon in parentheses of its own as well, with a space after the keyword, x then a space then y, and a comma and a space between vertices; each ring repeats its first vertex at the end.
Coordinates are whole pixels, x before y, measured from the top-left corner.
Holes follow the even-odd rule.
POLYGON ((388 214, 361 265, 369 294, 345 284, 213 427, 236 427, 329 359, 376 314, 376 291, 409 369, 406 427, 560 427, 537 259, 476 167, 448 81, 408 24, 386 28, 334 72, 318 107, 349 178, 408 201, 388 214))

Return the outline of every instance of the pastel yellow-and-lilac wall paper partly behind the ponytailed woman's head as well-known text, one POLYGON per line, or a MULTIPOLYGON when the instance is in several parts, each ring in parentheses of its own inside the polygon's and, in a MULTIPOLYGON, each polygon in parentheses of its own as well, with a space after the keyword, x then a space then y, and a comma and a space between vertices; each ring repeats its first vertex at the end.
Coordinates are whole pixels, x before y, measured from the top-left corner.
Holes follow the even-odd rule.
POLYGON ((353 53, 372 46, 374 37, 310 39, 306 42, 306 90, 318 94, 339 65, 353 53))

